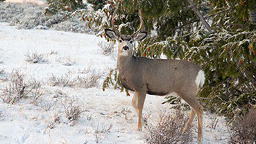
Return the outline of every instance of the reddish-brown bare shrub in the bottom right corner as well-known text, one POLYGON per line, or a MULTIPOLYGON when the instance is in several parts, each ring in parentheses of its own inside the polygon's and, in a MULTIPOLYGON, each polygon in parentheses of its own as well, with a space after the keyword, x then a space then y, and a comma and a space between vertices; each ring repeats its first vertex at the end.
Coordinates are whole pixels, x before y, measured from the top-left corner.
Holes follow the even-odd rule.
POLYGON ((237 114, 237 120, 230 124, 230 143, 256 143, 256 109, 237 114))

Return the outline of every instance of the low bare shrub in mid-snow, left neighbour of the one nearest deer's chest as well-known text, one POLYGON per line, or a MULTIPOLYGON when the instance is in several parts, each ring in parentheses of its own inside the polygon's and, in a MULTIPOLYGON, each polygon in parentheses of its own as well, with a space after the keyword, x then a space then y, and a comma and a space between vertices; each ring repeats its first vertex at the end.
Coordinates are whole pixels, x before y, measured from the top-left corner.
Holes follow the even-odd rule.
POLYGON ((49 84, 53 87, 73 87, 75 85, 75 82, 74 80, 71 80, 68 73, 65 73, 65 75, 60 76, 51 74, 51 77, 49 78, 49 84))

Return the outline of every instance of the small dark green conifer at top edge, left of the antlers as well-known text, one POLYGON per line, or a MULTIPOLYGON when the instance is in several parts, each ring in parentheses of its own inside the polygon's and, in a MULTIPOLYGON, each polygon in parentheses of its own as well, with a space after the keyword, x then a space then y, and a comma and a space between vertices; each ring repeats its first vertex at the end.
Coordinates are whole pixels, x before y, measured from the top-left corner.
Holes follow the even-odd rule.
POLYGON ((86 8, 83 0, 46 0, 46 8, 44 14, 65 13, 70 15, 70 12, 78 9, 86 8))

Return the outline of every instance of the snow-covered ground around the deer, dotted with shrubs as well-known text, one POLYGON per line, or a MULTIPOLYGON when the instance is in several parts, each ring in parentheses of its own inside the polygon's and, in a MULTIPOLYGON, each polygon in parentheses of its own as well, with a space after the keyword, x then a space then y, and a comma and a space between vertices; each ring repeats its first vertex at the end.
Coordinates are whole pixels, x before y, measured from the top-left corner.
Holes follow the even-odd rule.
MULTIPOLYGON (((130 104, 132 97, 119 90, 101 85, 110 69, 116 65, 117 51, 103 55, 98 43, 104 39, 94 35, 67 33, 56 30, 17 30, 0 23, 0 71, 11 73, 19 69, 26 79, 42 81, 44 94, 34 100, 24 98, 14 105, 0 100, 0 143, 145 143, 144 134, 137 132, 137 116, 130 104), (44 58, 39 63, 27 62, 27 53, 38 53, 44 58), (86 72, 85 72, 86 71, 86 72), (101 75, 96 87, 52 87, 51 75, 101 75), (73 125, 65 118, 65 107, 70 100, 85 110, 73 125), (46 109, 49 107, 49 109, 46 109), (108 131, 108 129, 110 129, 108 131), (102 132, 99 132, 102 131, 102 132), (103 132, 105 131, 105 132, 103 132)), ((0 75, 0 88, 7 82, 0 75)), ((172 111, 162 105, 164 97, 147 96, 144 114, 156 123, 162 111, 172 111)), ((189 114, 189 111, 185 111, 189 114)), ((196 120, 194 125, 196 127, 196 120)), ((196 143, 194 132, 194 143, 196 143)), ((225 118, 205 111, 203 114, 202 143, 227 143, 225 118), (216 129, 210 125, 219 118, 216 129)))

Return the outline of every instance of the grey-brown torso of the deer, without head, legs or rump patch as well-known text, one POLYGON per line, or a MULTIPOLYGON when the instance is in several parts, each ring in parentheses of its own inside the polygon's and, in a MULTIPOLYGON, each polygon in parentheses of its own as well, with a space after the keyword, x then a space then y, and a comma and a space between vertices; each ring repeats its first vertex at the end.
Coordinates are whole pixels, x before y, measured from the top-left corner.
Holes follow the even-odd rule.
POLYGON ((168 93, 197 89, 200 67, 185 60, 153 60, 121 56, 117 61, 119 80, 126 89, 165 96, 168 93))

